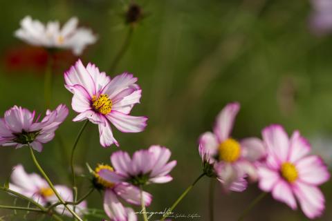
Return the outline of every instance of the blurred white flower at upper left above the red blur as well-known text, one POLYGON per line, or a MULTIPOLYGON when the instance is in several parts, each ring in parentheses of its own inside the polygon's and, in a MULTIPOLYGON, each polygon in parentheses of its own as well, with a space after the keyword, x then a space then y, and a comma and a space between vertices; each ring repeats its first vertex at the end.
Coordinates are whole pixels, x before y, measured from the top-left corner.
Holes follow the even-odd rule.
POLYGON ((66 48, 80 55, 84 48, 94 44, 97 37, 87 28, 77 28, 78 19, 69 19, 60 29, 59 21, 48 21, 46 25, 30 16, 21 20, 21 28, 15 31, 15 37, 33 46, 45 48, 66 48))

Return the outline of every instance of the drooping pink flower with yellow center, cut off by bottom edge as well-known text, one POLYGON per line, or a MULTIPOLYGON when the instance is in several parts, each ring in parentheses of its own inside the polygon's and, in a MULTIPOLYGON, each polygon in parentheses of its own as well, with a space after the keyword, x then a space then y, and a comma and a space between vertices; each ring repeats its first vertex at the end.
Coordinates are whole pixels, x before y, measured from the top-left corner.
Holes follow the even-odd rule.
MULTIPOLYGON (((98 165, 93 172, 93 184, 97 189, 104 191, 104 211, 111 220, 114 221, 134 221, 137 220, 133 210, 122 205, 119 198, 129 204, 140 205, 140 189, 127 182, 122 182, 122 177, 118 175, 109 165, 98 165)), ((143 191, 143 200, 146 206, 152 201, 151 194, 143 191)))

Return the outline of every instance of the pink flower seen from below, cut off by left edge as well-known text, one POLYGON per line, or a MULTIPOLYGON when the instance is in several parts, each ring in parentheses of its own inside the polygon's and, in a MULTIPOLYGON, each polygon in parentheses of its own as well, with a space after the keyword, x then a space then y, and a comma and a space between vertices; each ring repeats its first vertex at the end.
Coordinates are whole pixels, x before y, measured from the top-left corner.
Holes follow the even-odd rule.
POLYGON ((54 111, 47 110, 46 116, 38 122, 35 111, 14 106, 0 118, 0 145, 21 148, 30 144, 36 151, 42 151, 43 146, 53 140, 55 131, 68 115, 68 108, 60 104, 54 111))

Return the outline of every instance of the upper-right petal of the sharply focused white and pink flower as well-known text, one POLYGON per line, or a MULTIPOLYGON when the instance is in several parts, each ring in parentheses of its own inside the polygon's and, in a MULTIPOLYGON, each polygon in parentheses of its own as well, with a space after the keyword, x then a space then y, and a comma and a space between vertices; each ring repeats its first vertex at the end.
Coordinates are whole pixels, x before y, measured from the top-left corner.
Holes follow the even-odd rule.
POLYGON ((136 83, 137 77, 133 77, 133 75, 128 73, 123 73, 122 75, 117 75, 109 84, 105 87, 103 93, 109 95, 110 99, 113 99, 120 91, 128 88, 129 86, 133 86, 136 83))

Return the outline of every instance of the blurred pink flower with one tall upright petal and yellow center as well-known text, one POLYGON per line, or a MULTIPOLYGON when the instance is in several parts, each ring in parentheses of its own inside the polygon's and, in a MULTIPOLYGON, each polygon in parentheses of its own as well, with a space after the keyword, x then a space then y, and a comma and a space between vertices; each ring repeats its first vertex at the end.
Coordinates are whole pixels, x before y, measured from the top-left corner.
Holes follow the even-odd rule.
POLYGON ((245 177, 257 178, 255 162, 265 155, 261 140, 250 137, 238 142, 230 137, 239 103, 227 104, 216 117, 214 133, 206 132, 199 138, 199 154, 204 171, 216 177, 226 190, 244 191, 245 177))

